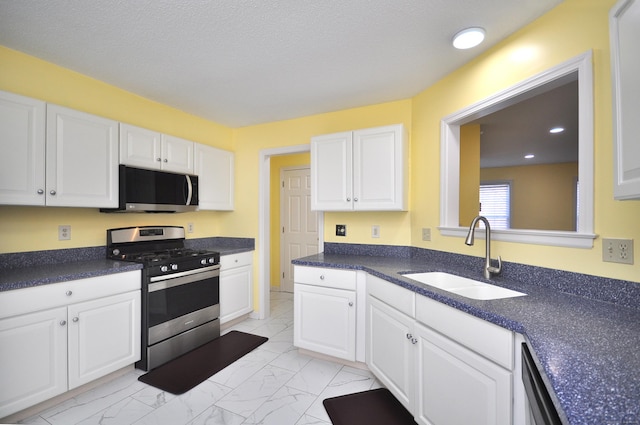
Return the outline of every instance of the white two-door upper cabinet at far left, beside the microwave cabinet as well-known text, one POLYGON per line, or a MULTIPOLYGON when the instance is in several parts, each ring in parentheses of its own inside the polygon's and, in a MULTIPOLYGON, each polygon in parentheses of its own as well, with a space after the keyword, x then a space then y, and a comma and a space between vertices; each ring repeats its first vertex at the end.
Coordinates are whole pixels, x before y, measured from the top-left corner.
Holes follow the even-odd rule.
POLYGON ((0 92, 0 204, 117 206, 118 124, 0 92))

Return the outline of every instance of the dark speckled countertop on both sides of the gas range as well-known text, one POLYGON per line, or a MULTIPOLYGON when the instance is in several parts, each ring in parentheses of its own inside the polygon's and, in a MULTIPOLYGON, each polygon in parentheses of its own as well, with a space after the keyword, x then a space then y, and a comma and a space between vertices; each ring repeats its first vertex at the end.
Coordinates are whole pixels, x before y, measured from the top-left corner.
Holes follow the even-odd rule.
MULTIPOLYGON (((185 246, 221 255, 254 250, 250 238, 187 239, 185 246)), ((0 255, 0 292, 140 270, 142 265, 106 259, 106 247, 32 251, 0 255)))

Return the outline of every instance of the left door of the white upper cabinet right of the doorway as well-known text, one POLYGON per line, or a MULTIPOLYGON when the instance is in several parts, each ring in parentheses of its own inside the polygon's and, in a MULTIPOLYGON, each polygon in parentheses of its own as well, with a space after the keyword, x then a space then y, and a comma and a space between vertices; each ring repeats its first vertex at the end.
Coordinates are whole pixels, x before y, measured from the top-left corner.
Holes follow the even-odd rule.
POLYGON ((311 139, 311 210, 353 209, 353 133, 311 139))

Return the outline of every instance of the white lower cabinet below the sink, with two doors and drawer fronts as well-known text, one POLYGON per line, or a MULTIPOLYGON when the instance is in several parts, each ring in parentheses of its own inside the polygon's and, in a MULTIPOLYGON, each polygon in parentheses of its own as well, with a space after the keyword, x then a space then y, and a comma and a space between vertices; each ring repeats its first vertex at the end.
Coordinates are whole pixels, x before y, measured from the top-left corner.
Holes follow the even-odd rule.
POLYGON ((423 425, 513 421, 513 332, 367 277, 367 366, 423 425))

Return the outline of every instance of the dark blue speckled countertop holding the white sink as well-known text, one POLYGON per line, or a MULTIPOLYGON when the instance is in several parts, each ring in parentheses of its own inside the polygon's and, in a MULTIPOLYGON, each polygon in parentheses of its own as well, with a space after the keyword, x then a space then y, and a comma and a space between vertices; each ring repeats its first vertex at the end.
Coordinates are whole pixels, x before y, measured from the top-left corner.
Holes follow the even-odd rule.
POLYGON ((507 263, 491 283, 527 296, 480 301, 400 273, 443 271, 483 281, 483 259, 417 248, 388 254, 376 249, 373 255, 353 255, 357 245, 325 244, 325 253, 293 263, 364 270, 521 333, 563 422, 640 424, 639 283, 507 263))

